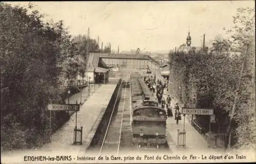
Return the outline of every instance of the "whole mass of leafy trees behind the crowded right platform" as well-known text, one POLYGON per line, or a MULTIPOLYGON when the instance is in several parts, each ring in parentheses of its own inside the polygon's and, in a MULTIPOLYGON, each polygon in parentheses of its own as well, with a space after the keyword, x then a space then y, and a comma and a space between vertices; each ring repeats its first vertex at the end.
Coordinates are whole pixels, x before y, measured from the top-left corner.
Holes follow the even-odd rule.
MULTIPOLYGON (((234 129, 234 147, 255 150, 255 22, 254 8, 238 9, 230 40, 217 37, 218 53, 170 53, 172 89, 185 106, 215 109, 218 129, 230 134, 234 129), (220 44, 236 47, 240 53, 222 53, 220 44)), ((208 116, 197 116, 208 130, 208 116)), ((226 143, 228 140, 226 140, 226 143)), ((227 146, 227 144, 226 144, 227 146)))

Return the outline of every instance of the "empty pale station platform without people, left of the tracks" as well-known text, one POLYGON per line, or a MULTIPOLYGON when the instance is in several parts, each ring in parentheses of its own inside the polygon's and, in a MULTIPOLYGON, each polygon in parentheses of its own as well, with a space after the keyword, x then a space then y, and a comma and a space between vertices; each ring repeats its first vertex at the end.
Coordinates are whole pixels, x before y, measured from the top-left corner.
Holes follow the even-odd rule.
POLYGON ((38 151, 69 151, 84 152, 86 149, 86 136, 94 126, 98 116, 106 109, 116 88, 118 80, 113 79, 110 83, 101 85, 93 94, 80 106, 77 112, 77 128, 82 129, 82 145, 73 145, 76 114, 74 113, 68 122, 59 128, 52 135, 52 142, 45 144, 38 151))

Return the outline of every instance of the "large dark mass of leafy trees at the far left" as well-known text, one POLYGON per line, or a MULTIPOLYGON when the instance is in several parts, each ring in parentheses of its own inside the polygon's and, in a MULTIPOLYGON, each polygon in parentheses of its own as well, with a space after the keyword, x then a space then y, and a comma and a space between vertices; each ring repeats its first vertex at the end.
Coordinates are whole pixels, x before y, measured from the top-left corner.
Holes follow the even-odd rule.
POLYGON ((47 104, 62 102, 70 36, 62 21, 44 23, 38 11, 1 3, 0 13, 1 148, 35 145, 49 121, 47 104))

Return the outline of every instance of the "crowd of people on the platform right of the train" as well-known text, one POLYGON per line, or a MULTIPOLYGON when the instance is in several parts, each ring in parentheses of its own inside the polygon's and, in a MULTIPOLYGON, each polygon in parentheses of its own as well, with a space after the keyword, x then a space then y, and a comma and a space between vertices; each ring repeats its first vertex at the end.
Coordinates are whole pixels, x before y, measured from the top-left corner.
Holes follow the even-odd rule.
MULTIPOLYGON (((172 111, 172 98, 168 92, 168 80, 161 81, 160 79, 156 80, 156 74, 144 76, 144 81, 147 87, 150 89, 153 95, 156 94, 158 105, 160 105, 166 112, 167 117, 173 117, 172 111), (165 95, 165 96, 163 96, 165 95), (167 95, 167 97, 166 97, 167 95), (165 98, 166 97, 166 98, 165 98), (165 108, 166 107, 166 108, 165 108)), ((175 120, 176 123, 179 123, 181 120, 181 113, 179 103, 175 104, 175 120)))

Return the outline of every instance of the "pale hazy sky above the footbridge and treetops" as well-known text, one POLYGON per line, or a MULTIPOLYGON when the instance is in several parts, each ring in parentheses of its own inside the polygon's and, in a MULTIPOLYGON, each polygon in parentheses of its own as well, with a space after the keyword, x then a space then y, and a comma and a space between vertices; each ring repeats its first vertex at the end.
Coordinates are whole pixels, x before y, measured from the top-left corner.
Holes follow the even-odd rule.
MULTIPOLYGON (((9 2, 27 6, 28 2, 9 2)), ((254 1, 170 1, 170 2, 33 2, 46 19, 63 20, 71 35, 99 35, 103 46, 111 42, 120 51, 169 50, 185 43, 190 26, 191 46, 200 46, 223 27, 232 26, 239 7, 254 7, 254 1)))

